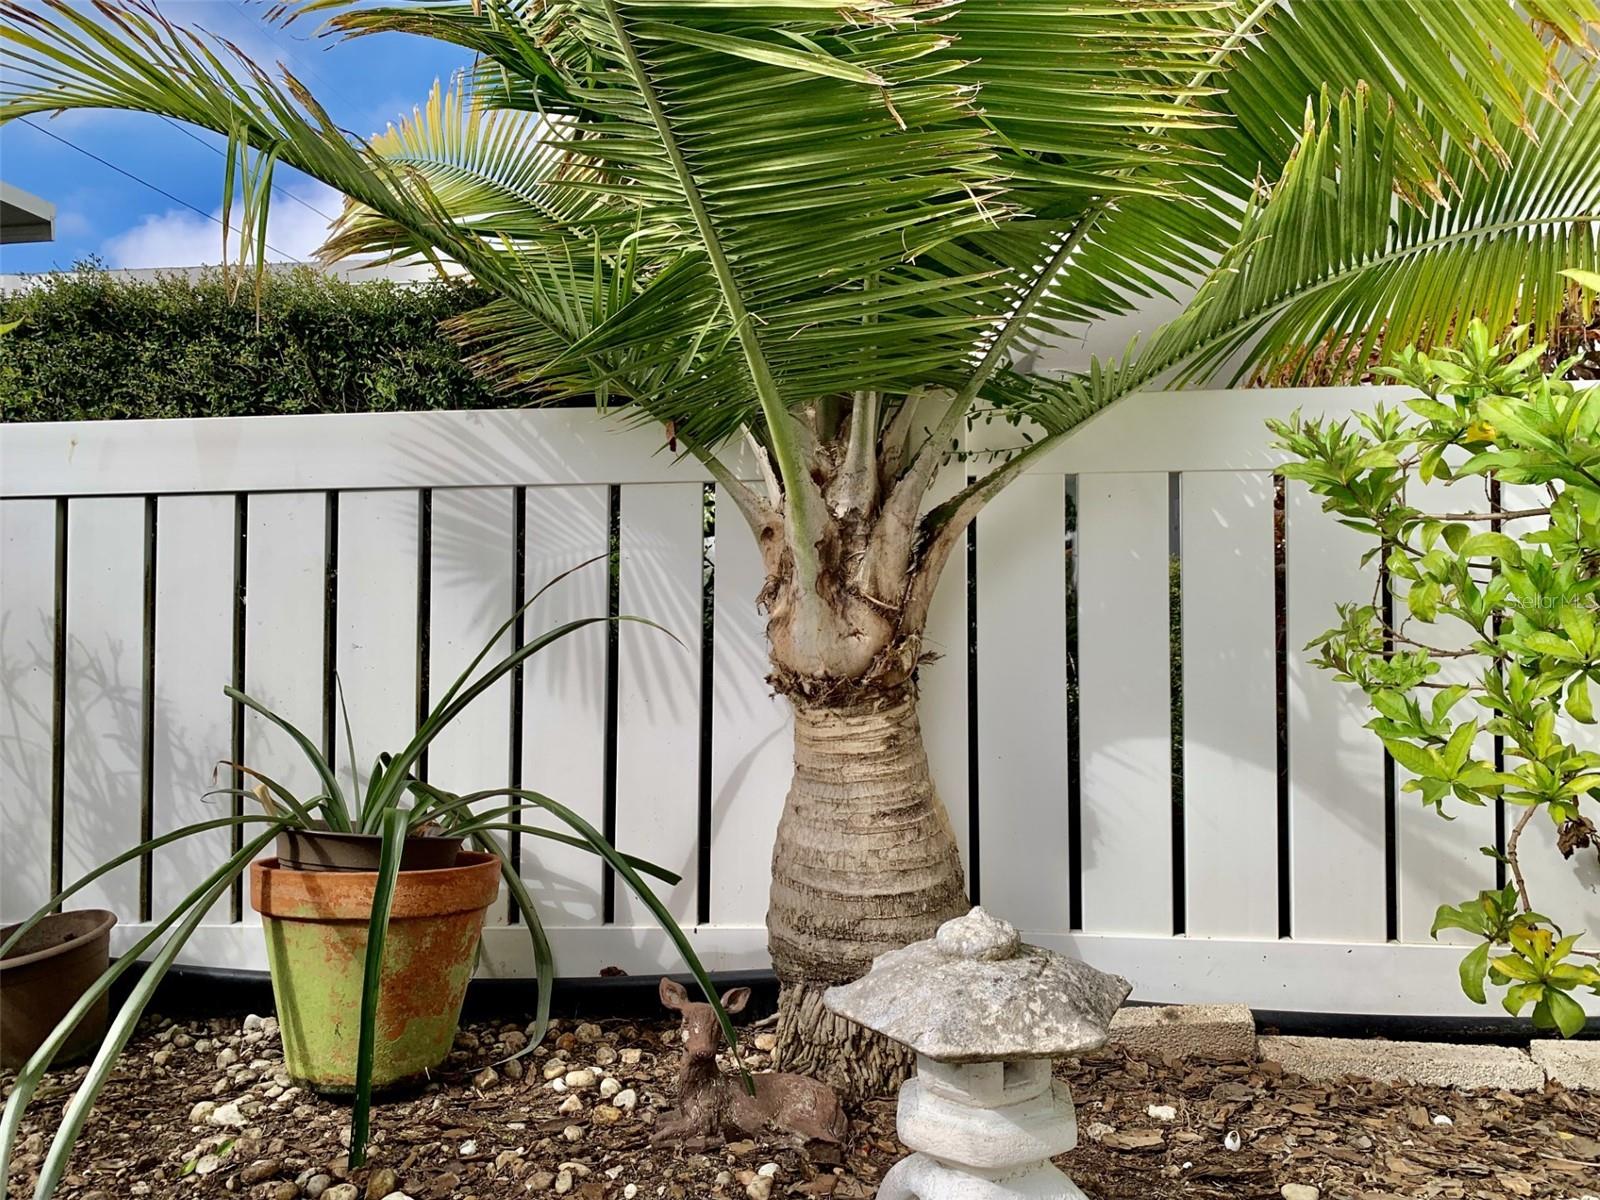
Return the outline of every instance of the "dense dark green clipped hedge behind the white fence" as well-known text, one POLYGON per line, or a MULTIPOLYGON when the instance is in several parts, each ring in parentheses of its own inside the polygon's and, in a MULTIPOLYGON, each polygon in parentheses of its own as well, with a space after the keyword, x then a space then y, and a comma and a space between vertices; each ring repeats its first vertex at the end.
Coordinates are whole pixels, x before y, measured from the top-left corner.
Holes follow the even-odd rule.
POLYGON ((347 283, 274 270, 259 315, 211 272, 128 282, 93 267, 0 296, 6 421, 486 408, 504 400, 438 323, 483 302, 470 283, 347 283))

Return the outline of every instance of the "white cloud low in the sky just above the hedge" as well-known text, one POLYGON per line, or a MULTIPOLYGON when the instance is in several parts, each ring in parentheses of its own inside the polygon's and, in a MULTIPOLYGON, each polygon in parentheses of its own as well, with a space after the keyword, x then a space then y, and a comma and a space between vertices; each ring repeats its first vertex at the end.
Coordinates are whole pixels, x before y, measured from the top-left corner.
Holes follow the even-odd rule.
MULTIPOLYGON (((274 192, 267 216, 267 258, 274 262, 302 262, 323 243, 328 222, 312 208, 336 216, 342 203, 338 192, 322 184, 294 184, 283 189, 304 200, 296 203, 283 192, 274 192), (307 208, 307 205, 310 208, 307 208)), ((182 208, 144 218, 106 240, 101 258, 110 267, 198 267, 222 261, 222 210, 213 211, 214 221, 182 208)), ((234 210, 238 222, 238 210, 234 210)), ((229 259, 238 258, 238 232, 229 235, 229 259)))

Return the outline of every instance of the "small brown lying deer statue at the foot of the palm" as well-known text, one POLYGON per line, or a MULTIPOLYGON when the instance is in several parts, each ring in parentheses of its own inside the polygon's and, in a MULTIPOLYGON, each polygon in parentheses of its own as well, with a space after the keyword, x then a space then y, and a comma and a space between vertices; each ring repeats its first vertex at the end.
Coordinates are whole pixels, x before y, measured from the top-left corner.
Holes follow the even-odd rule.
MULTIPOLYGON (((739 1013, 749 1000, 749 987, 734 987, 722 997, 722 1006, 739 1013)), ((774 1070, 750 1077, 755 1080, 752 1096, 739 1075, 725 1075, 717 1069, 717 1048, 722 1045, 717 1011, 690 1000, 683 984, 672 979, 661 981, 661 1003, 683 1018, 683 1062, 678 1067, 678 1107, 658 1123, 651 1141, 704 1150, 728 1138, 757 1136, 768 1130, 789 1134, 797 1142, 843 1141, 848 1120, 832 1088, 805 1075, 774 1070)))

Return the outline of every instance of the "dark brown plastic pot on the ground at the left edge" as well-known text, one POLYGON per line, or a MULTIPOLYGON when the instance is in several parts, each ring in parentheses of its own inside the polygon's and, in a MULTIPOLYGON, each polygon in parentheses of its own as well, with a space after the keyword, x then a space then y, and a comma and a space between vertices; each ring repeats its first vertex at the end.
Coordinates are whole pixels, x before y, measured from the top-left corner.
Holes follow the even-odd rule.
MULTIPOLYGON (((61 1018, 110 966, 110 926, 104 909, 56 912, 29 930, 0 958, 0 1067, 18 1069, 43 1045, 61 1018)), ((16 925, 0 930, 10 938, 16 925)), ((56 1062, 83 1058, 106 1037, 109 997, 101 997, 61 1046, 56 1062)))

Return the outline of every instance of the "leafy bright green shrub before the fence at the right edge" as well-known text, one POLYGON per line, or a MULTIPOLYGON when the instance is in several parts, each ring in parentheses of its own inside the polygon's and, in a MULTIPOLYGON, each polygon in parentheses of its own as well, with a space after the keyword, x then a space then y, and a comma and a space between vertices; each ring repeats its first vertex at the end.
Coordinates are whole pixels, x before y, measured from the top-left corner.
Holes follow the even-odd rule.
POLYGON ((1512 1016, 1531 1008, 1536 1027, 1571 1037, 1584 1027, 1571 994, 1600 995, 1595 946, 1533 907, 1520 851, 1538 822, 1568 861, 1600 854, 1600 387, 1562 379, 1576 360, 1542 371, 1544 357, 1525 330, 1494 341, 1472 322, 1459 349, 1386 368, 1421 392, 1405 410, 1270 427, 1283 474, 1374 541, 1363 562, 1394 594, 1339 605, 1314 662, 1366 693, 1368 728, 1426 806, 1520 810, 1504 845, 1483 848, 1510 882, 1442 906, 1434 936, 1482 939, 1461 962, 1472 1000, 1501 986, 1512 1016), (1445 491, 1461 499, 1434 499, 1445 491))

